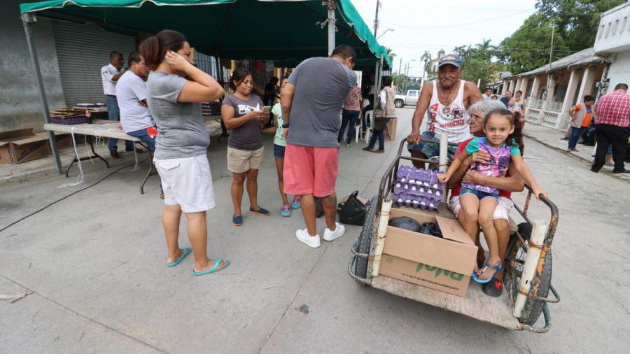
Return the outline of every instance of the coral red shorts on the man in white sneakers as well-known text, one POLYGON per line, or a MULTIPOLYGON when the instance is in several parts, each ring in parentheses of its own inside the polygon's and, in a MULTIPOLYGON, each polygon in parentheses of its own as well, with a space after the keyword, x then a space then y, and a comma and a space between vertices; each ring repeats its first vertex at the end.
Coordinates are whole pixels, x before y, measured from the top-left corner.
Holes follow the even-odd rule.
POLYGON ((335 193, 339 148, 309 148, 286 144, 284 192, 328 197, 335 193))

